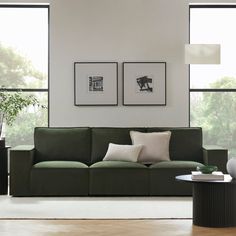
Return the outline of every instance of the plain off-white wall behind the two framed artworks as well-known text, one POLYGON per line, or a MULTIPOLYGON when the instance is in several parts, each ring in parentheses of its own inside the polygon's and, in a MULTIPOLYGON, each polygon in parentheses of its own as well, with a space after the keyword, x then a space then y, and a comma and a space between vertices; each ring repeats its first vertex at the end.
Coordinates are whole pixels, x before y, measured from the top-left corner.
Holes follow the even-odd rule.
POLYGON ((51 126, 188 126, 188 0, 24 2, 51 5, 51 126), (74 106, 75 61, 119 62, 117 107, 74 106), (122 106, 123 61, 167 62, 167 106, 122 106))

